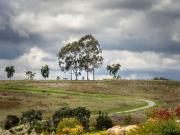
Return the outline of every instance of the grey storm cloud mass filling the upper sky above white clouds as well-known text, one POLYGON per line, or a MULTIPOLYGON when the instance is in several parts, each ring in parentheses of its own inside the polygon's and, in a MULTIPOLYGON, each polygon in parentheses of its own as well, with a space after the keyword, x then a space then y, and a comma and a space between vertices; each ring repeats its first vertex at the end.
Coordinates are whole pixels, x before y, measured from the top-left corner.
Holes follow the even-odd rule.
POLYGON ((180 53, 178 0, 1 0, 0 58, 93 34, 104 50, 180 53))

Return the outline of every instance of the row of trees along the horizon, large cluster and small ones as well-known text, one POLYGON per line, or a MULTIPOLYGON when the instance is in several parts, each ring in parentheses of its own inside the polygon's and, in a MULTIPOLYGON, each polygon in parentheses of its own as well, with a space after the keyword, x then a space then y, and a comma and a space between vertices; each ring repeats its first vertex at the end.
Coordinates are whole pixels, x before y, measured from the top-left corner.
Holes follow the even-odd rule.
MULTIPOLYGON (((78 76, 82 71, 86 72, 86 78, 89 80, 89 73, 93 74, 93 80, 95 80, 95 69, 100 68, 103 64, 104 58, 102 56, 101 46, 95 37, 92 35, 85 35, 78 41, 73 41, 65 44, 58 54, 59 67, 62 72, 69 72, 72 80, 73 74, 75 80, 78 80, 78 76)), ((107 65, 106 69, 113 78, 119 79, 117 75, 120 70, 120 64, 107 65)), ((12 78, 15 73, 14 66, 7 66, 5 68, 7 78, 12 78)), ((41 75, 46 80, 49 77, 50 68, 48 65, 44 65, 41 68, 41 75)), ((28 80, 33 80, 36 73, 27 71, 26 75, 28 80)), ((59 79, 57 77, 57 79, 59 79)))

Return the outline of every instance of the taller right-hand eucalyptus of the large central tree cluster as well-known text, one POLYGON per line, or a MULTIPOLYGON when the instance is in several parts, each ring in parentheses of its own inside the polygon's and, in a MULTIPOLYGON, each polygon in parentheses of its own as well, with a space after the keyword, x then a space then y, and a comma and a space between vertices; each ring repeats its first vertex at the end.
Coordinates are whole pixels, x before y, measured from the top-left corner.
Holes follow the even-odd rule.
POLYGON ((97 39, 92 35, 85 35, 79 40, 81 50, 81 67, 87 73, 89 80, 89 72, 93 72, 93 80, 95 79, 95 68, 99 68, 103 63, 101 56, 102 50, 97 39))

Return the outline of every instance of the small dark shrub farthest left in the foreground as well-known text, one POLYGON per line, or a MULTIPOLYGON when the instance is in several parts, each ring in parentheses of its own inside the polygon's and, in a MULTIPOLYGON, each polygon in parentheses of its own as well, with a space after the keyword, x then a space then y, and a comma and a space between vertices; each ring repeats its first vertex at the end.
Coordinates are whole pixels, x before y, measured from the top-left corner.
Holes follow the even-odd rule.
POLYGON ((5 120, 5 123, 4 123, 4 128, 6 130, 14 127, 14 126, 17 126, 19 123, 19 118, 15 115, 8 115, 6 117, 6 120, 5 120))

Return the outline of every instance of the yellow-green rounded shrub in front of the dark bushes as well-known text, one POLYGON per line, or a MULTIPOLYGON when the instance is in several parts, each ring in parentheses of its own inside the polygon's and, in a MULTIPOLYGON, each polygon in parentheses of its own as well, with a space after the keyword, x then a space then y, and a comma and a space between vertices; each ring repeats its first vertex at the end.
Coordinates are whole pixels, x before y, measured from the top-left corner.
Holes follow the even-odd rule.
POLYGON ((80 135, 83 133, 83 127, 76 118, 64 118, 59 122, 56 133, 58 135, 80 135))

